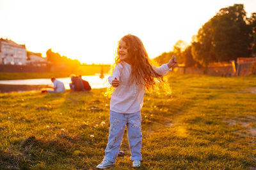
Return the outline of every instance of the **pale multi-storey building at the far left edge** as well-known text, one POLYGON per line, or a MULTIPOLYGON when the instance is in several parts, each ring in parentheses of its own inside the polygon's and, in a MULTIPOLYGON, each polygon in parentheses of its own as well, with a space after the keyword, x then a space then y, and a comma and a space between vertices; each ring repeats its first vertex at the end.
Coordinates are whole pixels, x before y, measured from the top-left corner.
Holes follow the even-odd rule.
POLYGON ((0 64, 26 65, 25 45, 18 45, 10 39, 0 39, 0 64))

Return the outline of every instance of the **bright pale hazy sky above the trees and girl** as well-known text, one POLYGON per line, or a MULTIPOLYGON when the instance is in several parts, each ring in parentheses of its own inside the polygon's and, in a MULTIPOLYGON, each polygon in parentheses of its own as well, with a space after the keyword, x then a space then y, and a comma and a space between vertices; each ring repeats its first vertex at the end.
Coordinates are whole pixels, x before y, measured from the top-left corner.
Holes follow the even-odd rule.
POLYGON ((138 36, 150 58, 172 50, 221 8, 243 3, 248 17, 256 0, 0 0, 0 37, 26 44, 32 52, 52 48, 85 63, 114 62, 117 42, 138 36))

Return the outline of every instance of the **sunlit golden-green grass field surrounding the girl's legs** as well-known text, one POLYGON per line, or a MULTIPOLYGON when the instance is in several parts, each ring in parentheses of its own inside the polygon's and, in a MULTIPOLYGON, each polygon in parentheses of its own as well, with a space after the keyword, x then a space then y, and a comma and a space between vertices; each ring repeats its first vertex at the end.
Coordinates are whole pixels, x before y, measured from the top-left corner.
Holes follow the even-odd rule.
MULTIPOLYGON (((144 97, 139 169, 256 168, 255 76, 166 80, 144 97)), ((105 92, 0 94, 0 169, 95 169, 108 141, 105 92)), ((126 134, 121 150, 110 169, 132 169, 126 134)))

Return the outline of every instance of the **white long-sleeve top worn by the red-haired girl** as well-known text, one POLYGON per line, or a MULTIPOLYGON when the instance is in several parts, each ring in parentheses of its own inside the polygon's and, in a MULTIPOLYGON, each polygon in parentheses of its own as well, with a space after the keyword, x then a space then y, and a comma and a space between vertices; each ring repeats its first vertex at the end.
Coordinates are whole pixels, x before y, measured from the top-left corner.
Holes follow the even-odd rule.
MULTIPOLYGON (((157 74, 164 75, 170 71, 167 64, 161 67, 154 67, 157 74)), ((137 85, 131 81, 131 65, 127 62, 120 62, 113 70, 113 74, 109 76, 108 81, 111 84, 116 78, 120 81, 120 85, 115 88, 110 101, 110 110, 118 113, 136 113, 143 106, 143 96, 145 94, 145 85, 137 85)))

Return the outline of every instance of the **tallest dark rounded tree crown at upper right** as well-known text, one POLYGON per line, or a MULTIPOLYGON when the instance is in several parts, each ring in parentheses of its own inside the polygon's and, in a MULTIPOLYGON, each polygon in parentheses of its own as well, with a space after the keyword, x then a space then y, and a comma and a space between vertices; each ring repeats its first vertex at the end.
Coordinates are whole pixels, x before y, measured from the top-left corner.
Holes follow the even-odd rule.
POLYGON ((191 45, 193 59, 207 67, 209 62, 248 57, 252 48, 252 26, 243 4, 222 8, 198 30, 191 45))

